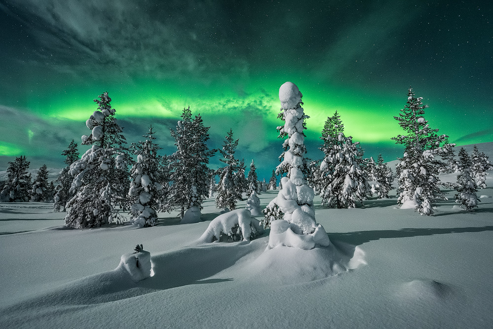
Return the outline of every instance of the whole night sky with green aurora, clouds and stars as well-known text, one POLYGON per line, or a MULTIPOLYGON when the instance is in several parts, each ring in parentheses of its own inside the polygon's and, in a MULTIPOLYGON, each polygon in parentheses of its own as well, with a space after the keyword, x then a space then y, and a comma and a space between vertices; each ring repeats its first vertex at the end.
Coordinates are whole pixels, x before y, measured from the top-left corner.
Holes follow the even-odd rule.
POLYGON ((19 155, 63 167, 105 91, 129 142, 152 124, 172 153, 169 130, 190 106, 210 147, 232 128, 237 157, 266 180, 285 81, 311 116, 312 159, 335 110, 365 157, 402 155, 390 138, 409 86, 451 142, 492 142, 492 15, 484 0, 0 0, 0 170, 19 155))

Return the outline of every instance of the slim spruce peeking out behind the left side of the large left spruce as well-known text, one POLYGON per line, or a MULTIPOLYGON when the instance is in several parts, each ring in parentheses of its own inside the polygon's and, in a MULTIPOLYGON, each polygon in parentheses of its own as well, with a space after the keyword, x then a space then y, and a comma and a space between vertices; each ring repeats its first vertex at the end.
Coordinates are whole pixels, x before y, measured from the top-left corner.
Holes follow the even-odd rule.
POLYGON ((79 159, 77 143, 72 140, 69 147, 62 151, 62 155, 66 156, 64 162, 67 164, 67 167, 60 171, 56 180, 58 185, 55 187, 55 196, 53 199, 53 211, 55 212, 65 211, 65 205, 70 199, 70 187, 72 185, 73 176, 70 176, 69 171, 70 165, 79 159))

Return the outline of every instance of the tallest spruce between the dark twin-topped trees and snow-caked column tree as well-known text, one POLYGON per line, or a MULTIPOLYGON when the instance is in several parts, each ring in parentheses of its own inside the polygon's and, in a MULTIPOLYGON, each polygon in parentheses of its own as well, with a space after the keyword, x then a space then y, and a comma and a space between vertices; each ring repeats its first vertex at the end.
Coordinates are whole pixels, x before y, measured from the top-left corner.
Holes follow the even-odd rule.
MULTIPOLYGON (((233 130, 230 129, 225 136, 222 144, 222 149, 219 152, 223 156, 219 159, 225 164, 224 167, 217 169, 216 173, 219 176, 219 184, 217 185, 217 195, 215 198, 216 208, 233 210, 236 208, 236 203, 241 199, 242 188, 238 184, 238 172, 240 171, 239 162, 235 159, 236 147, 238 140, 233 139, 233 130), (235 177, 237 178, 235 182, 235 177)), ((245 178, 245 174, 243 174, 245 178)))

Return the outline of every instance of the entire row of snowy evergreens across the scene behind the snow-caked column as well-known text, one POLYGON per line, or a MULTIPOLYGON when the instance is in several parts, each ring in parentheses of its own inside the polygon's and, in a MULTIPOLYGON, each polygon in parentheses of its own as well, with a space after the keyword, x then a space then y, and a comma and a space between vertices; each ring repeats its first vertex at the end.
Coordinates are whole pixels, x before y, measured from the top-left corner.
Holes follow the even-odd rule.
MULTIPOLYGON (((227 133, 221 149, 209 149, 210 127, 204 126, 200 114, 193 117, 190 108, 183 109, 181 120, 171 129, 176 152, 160 156, 152 126, 143 135, 144 141, 127 147, 123 130, 114 117, 111 98, 104 93, 94 101, 98 110, 86 121, 91 133, 82 136, 82 145, 91 148, 79 158, 77 144, 70 142, 62 152, 67 167, 60 172, 56 187, 47 181, 46 165, 39 168, 32 182, 27 172, 29 162, 21 156, 9 162, 8 179, 0 186, 1 201, 53 201, 55 211, 70 208, 65 220, 71 227, 119 222, 123 220, 119 209, 129 211, 133 223, 153 226, 157 223, 158 211, 177 210, 183 218, 187 210, 193 209, 200 215, 203 201, 214 194, 216 207, 227 211, 235 209, 246 193, 247 207, 256 212, 258 194, 277 189, 277 176, 289 177, 293 154, 306 152, 303 144, 297 146, 303 149, 291 149, 293 146, 286 139, 281 164, 273 170, 268 183, 265 179, 260 182, 253 160, 245 177, 245 161, 235 157, 239 140, 233 138, 233 131, 227 133), (224 165, 211 170, 209 160, 217 151, 224 165), (219 177, 217 185, 216 176, 219 177)), ((398 203, 415 208, 421 215, 433 215, 436 202, 445 199, 440 190, 444 183, 440 182, 438 174, 458 172, 454 186, 458 191, 456 200, 464 209, 471 210, 477 206, 477 188, 486 187, 487 171, 492 169, 488 156, 474 146, 471 155, 461 149, 457 160, 455 145, 448 142, 448 136, 438 135, 438 129, 432 129, 424 119, 427 106, 422 101, 423 98, 416 98, 409 88, 406 106, 394 117, 405 132, 392 138, 396 144, 404 145, 403 156, 398 158, 396 166, 398 203)), ((285 120, 283 115, 280 113, 280 118, 285 120)), ((300 127, 296 129, 306 128, 307 117, 299 120, 300 127)), ((288 136, 284 128, 278 127, 281 138, 288 136)), ((327 207, 363 206, 364 200, 372 195, 388 198, 394 174, 381 154, 376 162, 373 157, 364 158, 364 149, 352 136, 345 135, 344 128, 337 111, 327 117, 319 147, 324 156, 312 161, 304 159, 298 165, 300 172, 313 186, 314 193, 320 195, 321 204, 327 207)))

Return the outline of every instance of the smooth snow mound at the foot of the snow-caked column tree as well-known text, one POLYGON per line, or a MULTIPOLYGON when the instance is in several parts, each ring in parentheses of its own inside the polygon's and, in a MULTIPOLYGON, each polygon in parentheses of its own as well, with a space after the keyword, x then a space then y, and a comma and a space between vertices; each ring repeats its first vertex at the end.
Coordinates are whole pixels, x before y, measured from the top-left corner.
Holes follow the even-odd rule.
POLYGON ((262 281, 288 285, 325 279, 366 264, 360 248, 340 248, 333 244, 311 250, 278 246, 266 250, 248 267, 262 281))

